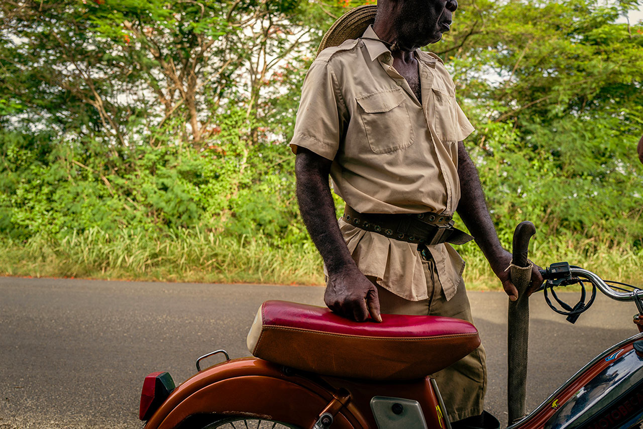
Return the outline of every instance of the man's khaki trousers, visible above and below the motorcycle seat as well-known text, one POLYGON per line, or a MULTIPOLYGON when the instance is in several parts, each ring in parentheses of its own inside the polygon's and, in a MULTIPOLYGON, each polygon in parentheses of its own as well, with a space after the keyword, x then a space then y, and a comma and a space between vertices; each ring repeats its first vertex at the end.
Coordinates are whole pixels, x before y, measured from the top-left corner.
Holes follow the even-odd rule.
MULTIPOLYGON (((422 253, 422 265, 426 273, 426 288, 429 298, 422 301, 408 301, 376 283, 381 313, 385 315, 448 316, 473 323, 464 280, 460 280, 457 293, 447 301, 438 279, 435 262, 430 258, 430 255, 428 259, 425 257, 428 252, 422 253)), ((373 278, 370 280, 374 281, 373 278)), ((431 378, 437 381, 450 421, 482 414, 484 395, 487 390, 485 361, 484 347, 480 345, 478 349, 462 360, 431 374, 431 378)))

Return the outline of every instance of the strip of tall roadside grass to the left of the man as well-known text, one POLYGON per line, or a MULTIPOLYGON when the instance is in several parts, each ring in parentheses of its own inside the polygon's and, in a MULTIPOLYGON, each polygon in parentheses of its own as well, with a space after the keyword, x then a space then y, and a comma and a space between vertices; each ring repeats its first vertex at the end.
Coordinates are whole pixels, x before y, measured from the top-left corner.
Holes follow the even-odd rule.
POLYGON ((320 284, 312 245, 274 248, 262 237, 221 237, 201 230, 154 234, 92 228, 63 239, 5 239, 0 272, 33 277, 127 278, 183 282, 320 284))

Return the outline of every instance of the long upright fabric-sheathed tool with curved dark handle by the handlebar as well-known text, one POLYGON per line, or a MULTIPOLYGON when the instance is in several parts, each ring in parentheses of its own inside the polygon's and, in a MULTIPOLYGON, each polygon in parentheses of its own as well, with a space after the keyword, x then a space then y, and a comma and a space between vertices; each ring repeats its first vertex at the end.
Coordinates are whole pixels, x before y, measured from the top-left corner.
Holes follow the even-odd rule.
POLYGON ((533 264, 527 259, 529 239, 536 233, 534 224, 522 222, 516 227, 513 260, 509 266, 511 281, 518 289, 518 300, 509 301, 507 313, 507 411, 509 425, 527 414, 527 350, 529 345, 529 297, 527 290, 533 264))

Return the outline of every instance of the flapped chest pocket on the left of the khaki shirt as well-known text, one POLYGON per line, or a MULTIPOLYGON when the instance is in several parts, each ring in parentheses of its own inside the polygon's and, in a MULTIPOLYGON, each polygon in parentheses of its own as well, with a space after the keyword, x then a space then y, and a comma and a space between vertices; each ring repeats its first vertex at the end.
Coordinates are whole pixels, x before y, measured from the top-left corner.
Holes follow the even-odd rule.
POLYGON ((370 149, 376 154, 399 151, 415 136, 402 89, 388 89, 356 98, 359 119, 370 149))

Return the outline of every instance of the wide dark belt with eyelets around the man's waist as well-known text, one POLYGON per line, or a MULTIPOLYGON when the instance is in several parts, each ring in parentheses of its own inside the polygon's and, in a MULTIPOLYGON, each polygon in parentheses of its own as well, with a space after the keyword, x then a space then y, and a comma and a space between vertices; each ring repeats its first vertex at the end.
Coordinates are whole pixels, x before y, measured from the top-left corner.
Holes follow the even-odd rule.
POLYGON ((359 213, 346 205, 344 220, 358 228, 376 232, 390 239, 433 246, 443 242, 464 244, 471 235, 453 228, 451 216, 431 212, 418 214, 359 213))

